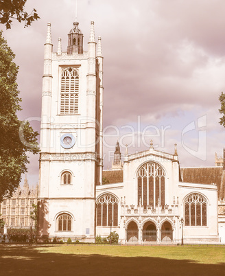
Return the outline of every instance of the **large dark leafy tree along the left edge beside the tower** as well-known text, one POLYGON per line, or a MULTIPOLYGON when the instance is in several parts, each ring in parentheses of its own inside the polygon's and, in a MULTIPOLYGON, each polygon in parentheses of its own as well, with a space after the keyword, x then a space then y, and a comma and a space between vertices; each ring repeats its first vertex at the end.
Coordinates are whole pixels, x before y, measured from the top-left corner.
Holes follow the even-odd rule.
POLYGON ((16 76, 19 67, 0 32, 0 202, 12 196, 27 172, 27 152, 38 153, 37 135, 28 122, 16 115, 21 110, 16 76))

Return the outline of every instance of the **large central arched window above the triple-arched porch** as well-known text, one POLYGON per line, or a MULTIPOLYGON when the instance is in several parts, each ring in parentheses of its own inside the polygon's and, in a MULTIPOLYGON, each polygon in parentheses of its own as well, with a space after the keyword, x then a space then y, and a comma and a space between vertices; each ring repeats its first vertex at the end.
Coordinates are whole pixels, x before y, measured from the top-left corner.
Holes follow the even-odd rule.
POLYGON ((145 163, 137 172, 138 205, 155 207, 158 202, 165 205, 165 172, 154 162, 145 163))

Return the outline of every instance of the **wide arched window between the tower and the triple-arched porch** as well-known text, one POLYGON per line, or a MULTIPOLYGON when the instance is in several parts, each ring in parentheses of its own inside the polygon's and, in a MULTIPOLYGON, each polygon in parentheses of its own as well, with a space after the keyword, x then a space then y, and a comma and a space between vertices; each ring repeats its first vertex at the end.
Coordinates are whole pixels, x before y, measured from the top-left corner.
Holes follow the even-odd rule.
POLYGON ((97 226, 118 226, 118 200, 111 194, 97 199, 97 226))

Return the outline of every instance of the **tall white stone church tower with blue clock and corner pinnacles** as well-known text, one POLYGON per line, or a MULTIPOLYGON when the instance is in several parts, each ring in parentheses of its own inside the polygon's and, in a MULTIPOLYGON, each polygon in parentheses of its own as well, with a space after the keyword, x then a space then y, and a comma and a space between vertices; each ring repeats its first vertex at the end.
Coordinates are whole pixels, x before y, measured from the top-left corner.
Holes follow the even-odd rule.
POLYGON ((40 127, 40 237, 95 237, 95 186, 102 181, 103 57, 94 22, 88 51, 79 23, 68 34, 67 52, 53 52, 47 27, 40 127), (97 48, 97 49, 96 49, 97 48), (96 53, 97 51, 97 53, 96 53))

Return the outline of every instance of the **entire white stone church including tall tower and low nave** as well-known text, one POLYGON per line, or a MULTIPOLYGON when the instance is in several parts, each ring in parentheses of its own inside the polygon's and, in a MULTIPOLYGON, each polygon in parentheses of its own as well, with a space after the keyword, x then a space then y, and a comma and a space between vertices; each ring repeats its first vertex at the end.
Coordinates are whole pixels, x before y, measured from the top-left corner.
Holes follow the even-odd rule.
POLYGON ((79 23, 53 52, 48 23, 40 128, 38 234, 94 242, 218 242, 217 185, 182 179, 178 152, 150 147, 103 171, 103 56, 94 23, 88 50, 79 23), (102 183, 102 179, 108 179, 102 183))

